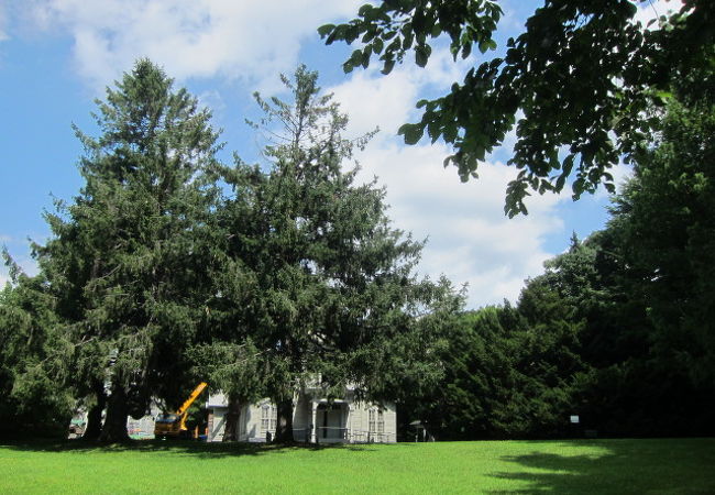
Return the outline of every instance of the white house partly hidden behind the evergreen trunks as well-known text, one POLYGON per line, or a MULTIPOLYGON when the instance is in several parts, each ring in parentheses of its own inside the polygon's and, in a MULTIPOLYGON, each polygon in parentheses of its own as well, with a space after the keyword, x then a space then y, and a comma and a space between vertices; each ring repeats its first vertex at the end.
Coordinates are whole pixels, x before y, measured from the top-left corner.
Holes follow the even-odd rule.
MULTIPOLYGON (((316 389, 294 399, 293 436, 296 441, 312 443, 361 443, 396 441, 397 414, 395 404, 372 404, 354 399, 351 389, 343 399, 329 403, 316 389), (311 393, 312 392, 312 393, 311 393)), ((226 429, 228 399, 223 394, 210 395, 208 441, 221 441, 226 429)), ((243 406, 239 419, 239 440, 265 442, 274 436, 277 421, 275 404, 270 399, 243 406)))

